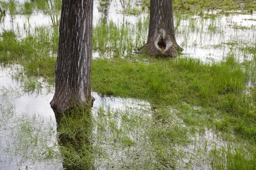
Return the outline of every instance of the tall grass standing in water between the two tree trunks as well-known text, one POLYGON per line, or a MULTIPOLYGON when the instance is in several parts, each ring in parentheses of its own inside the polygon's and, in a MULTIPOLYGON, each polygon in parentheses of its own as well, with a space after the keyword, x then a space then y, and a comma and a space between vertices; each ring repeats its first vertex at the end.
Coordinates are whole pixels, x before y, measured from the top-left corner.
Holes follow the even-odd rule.
POLYGON ((101 21, 93 27, 93 50, 108 57, 131 54, 145 44, 147 29, 146 18, 140 18, 136 24, 101 21))

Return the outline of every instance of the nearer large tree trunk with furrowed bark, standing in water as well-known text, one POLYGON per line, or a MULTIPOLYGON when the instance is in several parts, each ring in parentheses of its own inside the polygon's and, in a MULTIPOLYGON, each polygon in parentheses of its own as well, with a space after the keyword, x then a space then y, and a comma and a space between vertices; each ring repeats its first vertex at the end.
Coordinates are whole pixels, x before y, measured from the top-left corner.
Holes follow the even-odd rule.
POLYGON ((62 1, 55 94, 50 102, 57 111, 92 102, 92 20, 93 0, 62 1))

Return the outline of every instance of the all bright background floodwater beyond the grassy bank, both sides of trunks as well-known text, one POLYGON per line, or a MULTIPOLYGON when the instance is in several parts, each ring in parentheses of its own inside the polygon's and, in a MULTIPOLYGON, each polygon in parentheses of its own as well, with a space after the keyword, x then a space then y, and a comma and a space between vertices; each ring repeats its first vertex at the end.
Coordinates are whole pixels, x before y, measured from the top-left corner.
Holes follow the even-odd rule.
MULTIPOLYGON (((133 1, 130 2, 126 6, 132 6, 133 1)), ((148 20, 148 14, 145 12, 138 16, 122 14, 124 6, 124 3, 119 0, 111 0, 109 5, 102 5, 101 1, 96 0, 93 6, 93 26, 105 19, 107 23, 113 22, 117 26, 129 23, 126 25, 129 27, 128 29, 136 30, 134 27, 139 21, 148 20)), ((184 49, 182 56, 211 62, 221 61, 228 55, 234 54, 239 62, 250 61, 255 54, 246 49, 253 48, 256 43, 255 18, 256 12, 252 14, 232 14, 232 12, 218 14, 218 11, 209 11, 203 13, 202 17, 175 14, 175 34, 177 43, 184 49)), ((13 29, 20 37, 24 37, 26 31, 33 32, 33 29, 38 26, 53 26, 56 24, 56 20, 60 20, 60 12, 49 15, 37 11, 30 15, 17 14, 14 16, 7 13, 0 23, 0 31, 13 29)), ((140 43, 146 41, 147 34, 145 31, 140 35, 140 43)), ((135 34, 131 36, 134 37, 132 44, 135 44, 136 36, 135 34)), ((136 51, 142 45, 134 46, 130 52, 136 51)), ((109 47, 111 47, 111 43, 109 47)), ((124 54, 127 52, 125 51, 124 54)), ((94 51, 93 57, 106 57, 106 55, 94 51)))

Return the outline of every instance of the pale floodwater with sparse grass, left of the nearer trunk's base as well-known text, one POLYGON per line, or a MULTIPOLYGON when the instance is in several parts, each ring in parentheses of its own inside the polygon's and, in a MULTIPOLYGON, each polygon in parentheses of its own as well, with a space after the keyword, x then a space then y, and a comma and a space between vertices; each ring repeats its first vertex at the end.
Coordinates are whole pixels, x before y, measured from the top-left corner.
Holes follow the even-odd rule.
POLYGON ((24 95, 12 71, 0 71, 0 169, 60 169, 52 95, 24 95))

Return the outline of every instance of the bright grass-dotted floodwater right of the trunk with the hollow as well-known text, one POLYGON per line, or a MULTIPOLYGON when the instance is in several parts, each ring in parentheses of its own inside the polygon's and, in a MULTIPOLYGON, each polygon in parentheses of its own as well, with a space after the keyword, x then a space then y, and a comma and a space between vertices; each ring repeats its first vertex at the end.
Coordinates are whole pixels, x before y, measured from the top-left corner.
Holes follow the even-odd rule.
POLYGON ((228 54, 234 54, 239 62, 250 61, 255 54, 241 49, 255 47, 256 13, 216 15, 216 11, 212 11, 210 16, 212 18, 192 16, 180 20, 176 38, 184 48, 183 53, 202 61, 221 61, 228 54))

